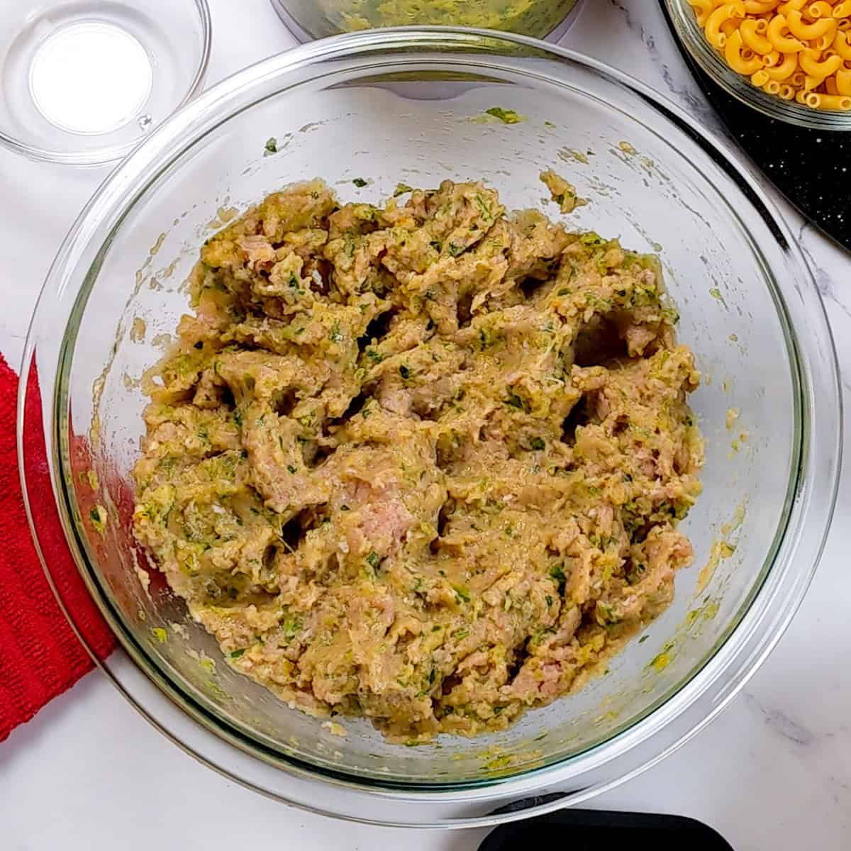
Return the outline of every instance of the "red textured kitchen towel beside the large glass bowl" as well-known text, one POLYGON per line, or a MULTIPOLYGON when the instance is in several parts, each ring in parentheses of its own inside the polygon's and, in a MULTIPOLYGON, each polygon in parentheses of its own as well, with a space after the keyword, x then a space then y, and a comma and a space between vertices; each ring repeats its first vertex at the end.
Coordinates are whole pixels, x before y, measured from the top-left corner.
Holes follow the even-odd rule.
MULTIPOLYGON (((33 378, 35 376, 33 375, 33 378)), ((35 492, 51 494, 37 382, 26 400, 26 475, 35 492)), ((68 625, 32 543, 20 490, 15 437, 18 377, 0 355, 0 741, 94 663, 68 625)), ((102 659, 114 646, 66 545, 52 499, 39 512, 43 555, 75 620, 102 659)))

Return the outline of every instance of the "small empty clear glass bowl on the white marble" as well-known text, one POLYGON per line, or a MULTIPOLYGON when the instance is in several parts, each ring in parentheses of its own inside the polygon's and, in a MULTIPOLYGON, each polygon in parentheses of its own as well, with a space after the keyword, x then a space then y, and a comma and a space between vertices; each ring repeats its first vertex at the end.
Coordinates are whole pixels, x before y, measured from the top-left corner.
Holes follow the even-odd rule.
POLYGON ((0 144, 35 160, 120 159, 201 88, 207 0, 37 0, 0 10, 0 144))

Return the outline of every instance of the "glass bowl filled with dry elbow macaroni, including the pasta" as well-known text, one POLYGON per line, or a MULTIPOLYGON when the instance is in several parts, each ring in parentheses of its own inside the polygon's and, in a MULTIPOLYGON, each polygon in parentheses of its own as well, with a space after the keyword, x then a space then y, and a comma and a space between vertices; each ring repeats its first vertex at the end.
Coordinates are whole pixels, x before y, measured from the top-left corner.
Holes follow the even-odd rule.
POLYGON ((851 3, 665 5, 688 53, 728 94, 799 127, 851 130, 851 3))

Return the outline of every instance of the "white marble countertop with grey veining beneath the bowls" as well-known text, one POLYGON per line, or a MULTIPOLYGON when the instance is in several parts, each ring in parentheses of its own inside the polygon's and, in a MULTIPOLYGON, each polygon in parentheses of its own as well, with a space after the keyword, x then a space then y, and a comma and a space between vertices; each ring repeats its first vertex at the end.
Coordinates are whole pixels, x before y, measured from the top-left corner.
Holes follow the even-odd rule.
MULTIPOLYGON (((214 82, 293 41, 267 0, 210 0, 214 82)), ((708 126, 711 109, 672 43, 656 0, 586 0, 565 43, 606 60, 677 101, 708 126)), ((0 351, 15 368, 54 250, 105 176, 28 163, 0 151, 4 304, 0 351), (43 190, 33 191, 34 186, 43 190), (44 203, 52 187, 53 203, 44 203)), ((788 204, 837 338, 851 391, 851 259, 788 204)), ((848 469, 847 465, 846 469, 848 469)), ((851 511, 848 477, 837 517, 851 511)), ((834 523, 806 601, 745 692, 711 726, 597 808, 690 815, 736 851, 851 846, 851 539, 834 523)), ((302 814, 203 768, 151 728, 98 672, 0 745, 3 848, 372 849, 477 848, 483 833, 386 831, 302 814), (226 814, 210 819, 211 805, 226 814)))

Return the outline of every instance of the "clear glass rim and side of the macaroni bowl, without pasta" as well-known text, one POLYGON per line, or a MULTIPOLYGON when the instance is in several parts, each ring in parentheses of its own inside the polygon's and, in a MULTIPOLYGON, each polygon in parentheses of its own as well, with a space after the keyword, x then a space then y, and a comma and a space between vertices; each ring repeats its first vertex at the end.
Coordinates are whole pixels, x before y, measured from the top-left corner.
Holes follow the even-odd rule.
POLYGON ((706 40, 688 0, 665 0, 665 7, 677 37, 694 61, 734 98, 762 112, 762 115, 787 124, 816 130, 851 130, 851 111, 812 109, 751 85, 750 80, 728 66, 721 54, 706 40))

